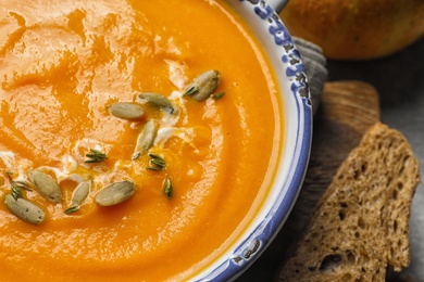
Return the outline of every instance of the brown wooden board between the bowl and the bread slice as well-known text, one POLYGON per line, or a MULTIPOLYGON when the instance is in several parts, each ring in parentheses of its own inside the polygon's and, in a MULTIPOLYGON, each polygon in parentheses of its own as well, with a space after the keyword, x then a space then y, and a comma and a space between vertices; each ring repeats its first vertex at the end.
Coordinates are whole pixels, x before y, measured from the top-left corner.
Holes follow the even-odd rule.
POLYGON ((310 164, 298 201, 262 256, 237 281, 272 281, 309 221, 337 168, 379 120, 376 90, 360 81, 327 82, 314 118, 310 164))

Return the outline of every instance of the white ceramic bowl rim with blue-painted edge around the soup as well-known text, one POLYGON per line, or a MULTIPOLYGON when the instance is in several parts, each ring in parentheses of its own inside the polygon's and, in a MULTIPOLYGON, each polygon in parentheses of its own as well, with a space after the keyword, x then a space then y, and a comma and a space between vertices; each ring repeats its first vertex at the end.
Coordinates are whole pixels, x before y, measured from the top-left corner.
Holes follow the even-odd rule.
MULTIPOLYGON (((285 150, 265 205, 229 252, 199 273, 196 281, 230 281, 240 275, 274 239, 300 191, 309 161, 312 108, 305 72, 278 14, 261 0, 228 0, 251 26, 272 62, 283 95, 285 150)), ((283 7, 274 0, 273 7, 283 7)))

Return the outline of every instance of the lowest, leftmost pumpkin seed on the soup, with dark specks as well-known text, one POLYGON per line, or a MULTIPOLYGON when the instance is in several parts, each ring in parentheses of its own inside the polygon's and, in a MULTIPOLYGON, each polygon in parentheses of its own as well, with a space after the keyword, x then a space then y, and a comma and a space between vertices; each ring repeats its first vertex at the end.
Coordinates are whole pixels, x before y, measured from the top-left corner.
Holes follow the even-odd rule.
POLYGON ((25 198, 15 200, 11 194, 8 194, 4 197, 4 204, 13 215, 28 223, 40 225, 46 220, 45 210, 25 198))

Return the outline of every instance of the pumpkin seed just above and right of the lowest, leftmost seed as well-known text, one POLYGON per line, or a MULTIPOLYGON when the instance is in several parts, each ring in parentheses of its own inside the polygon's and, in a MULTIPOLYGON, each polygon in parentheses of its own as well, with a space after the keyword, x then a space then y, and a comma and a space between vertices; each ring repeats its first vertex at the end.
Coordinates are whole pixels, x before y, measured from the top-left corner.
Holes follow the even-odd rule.
POLYGON ((38 192, 51 203, 59 204, 61 202, 62 191, 50 176, 38 169, 32 169, 28 171, 28 178, 38 192))

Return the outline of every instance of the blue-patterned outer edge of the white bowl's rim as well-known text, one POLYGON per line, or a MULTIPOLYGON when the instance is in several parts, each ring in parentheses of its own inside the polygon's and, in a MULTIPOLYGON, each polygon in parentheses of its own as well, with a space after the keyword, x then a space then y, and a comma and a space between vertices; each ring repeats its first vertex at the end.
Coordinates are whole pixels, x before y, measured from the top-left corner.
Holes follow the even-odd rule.
POLYGON ((287 28, 277 13, 265 1, 232 0, 229 2, 239 12, 242 11, 248 16, 254 15, 257 17, 254 21, 260 21, 260 24, 266 28, 266 33, 262 33, 262 36, 267 37, 264 44, 270 46, 270 42, 272 42, 273 47, 270 48, 277 50, 276 53, 279 60, 278 62, 274 60, 272 63, 277 76, 286 76, 282 80, 288 81, 288 86, 282 86, 280 88, 284 91, 283 88, 288 87, 296 100, 298 126, 288 177, 275 180, 280 190, 274 202, 266 206, 266 215, 255 226, 253 232, 248 234, 234 248, 228 258, 221 261, 213 269, 200 273, 196 277, 197 281, 235 280, 262 254, 283 227, 300 192, 308 167, 312 140, 312 106, 308 79, 299 51, 296 49, 287 28))

